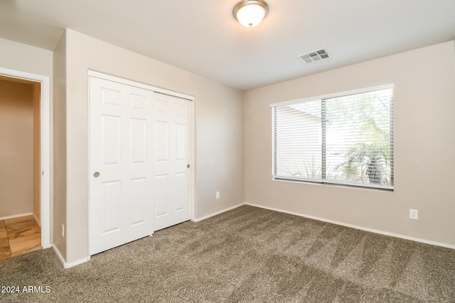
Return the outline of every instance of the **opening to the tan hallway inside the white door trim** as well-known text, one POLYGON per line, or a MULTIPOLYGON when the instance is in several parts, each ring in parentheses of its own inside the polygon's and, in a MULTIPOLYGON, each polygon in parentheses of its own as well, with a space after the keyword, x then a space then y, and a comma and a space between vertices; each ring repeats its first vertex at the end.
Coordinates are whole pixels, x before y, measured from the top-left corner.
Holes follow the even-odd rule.
POLYGON ((0 76, 0 259, 41 248, 40 95, 0 76))

